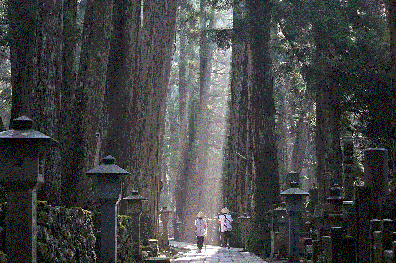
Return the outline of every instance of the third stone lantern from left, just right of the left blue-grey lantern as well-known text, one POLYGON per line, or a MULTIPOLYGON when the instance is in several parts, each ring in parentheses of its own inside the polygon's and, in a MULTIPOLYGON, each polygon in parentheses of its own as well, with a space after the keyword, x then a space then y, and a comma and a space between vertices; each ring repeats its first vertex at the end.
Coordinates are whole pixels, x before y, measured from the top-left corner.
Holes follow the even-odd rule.
POLYGON ((126 201, 127 214, 131 217, 131 229, 133 239, 133 250, 135 251, 135 260, 143 262, 143 254, 140 253, 140 216, 142 214, 142 201, 147 200, 139 195, 139 192, 132 191, 132 194, 123 198, 126 201))

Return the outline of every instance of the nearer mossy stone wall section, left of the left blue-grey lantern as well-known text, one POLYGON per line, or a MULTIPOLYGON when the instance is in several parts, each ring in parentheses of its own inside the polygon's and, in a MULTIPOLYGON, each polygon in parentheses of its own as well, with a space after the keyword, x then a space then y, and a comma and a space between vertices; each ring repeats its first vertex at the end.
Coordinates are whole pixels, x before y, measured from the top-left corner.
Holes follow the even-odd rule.
MULTIPOLYGON (((7 203, 0 205, 0 251, 6 252, 7 203)), ((37 201, 37 263, 94 263, 91 212, 37 201)))

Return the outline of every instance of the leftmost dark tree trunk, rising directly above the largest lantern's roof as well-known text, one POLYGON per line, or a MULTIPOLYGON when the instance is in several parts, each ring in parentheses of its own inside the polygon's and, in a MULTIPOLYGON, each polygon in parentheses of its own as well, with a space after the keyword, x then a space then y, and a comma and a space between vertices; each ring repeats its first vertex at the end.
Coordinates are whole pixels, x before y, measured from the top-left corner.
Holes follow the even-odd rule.
MULTIPOLYGON (((10 23, 8 43, 11 64, 11 120, 25 115, 32 117, 32 77, 34 57, 34 33, 36 25, 36 0, 8 0, 10 23), (27 28, 19 28, 20 23, 27 28)), ((12 122, 10 120, 10 128, 12 122)))

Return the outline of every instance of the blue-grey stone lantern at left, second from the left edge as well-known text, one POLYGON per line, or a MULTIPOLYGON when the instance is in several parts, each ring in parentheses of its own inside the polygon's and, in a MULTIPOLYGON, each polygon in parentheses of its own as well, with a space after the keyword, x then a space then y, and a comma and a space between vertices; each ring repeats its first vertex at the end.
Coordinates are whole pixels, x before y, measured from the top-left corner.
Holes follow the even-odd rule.
POLYGON ((96 177, 96 198, 101 204, 100 262, 117 262, 117 204, 121 200, 121 177, 131 174, 115 164, 111 155, 103 158, 103 164, 86 172, 96 177))

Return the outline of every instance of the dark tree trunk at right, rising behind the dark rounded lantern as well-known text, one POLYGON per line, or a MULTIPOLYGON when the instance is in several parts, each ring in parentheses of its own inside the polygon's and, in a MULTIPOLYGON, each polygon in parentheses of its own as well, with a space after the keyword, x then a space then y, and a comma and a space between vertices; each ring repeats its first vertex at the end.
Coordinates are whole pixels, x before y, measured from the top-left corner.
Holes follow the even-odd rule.
MULTIPOLYGON (((322 30, 315 34, 316 56, 331 58, 334 45, 322 30)), ((316 179, 318 203, 326 203, 333 183, 342 184, 342 151, 340 146, 341 91, 337 72, 324 67, 324 78, 316 90, 316 179)))

